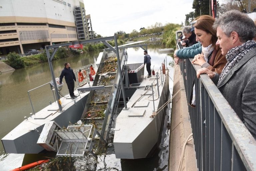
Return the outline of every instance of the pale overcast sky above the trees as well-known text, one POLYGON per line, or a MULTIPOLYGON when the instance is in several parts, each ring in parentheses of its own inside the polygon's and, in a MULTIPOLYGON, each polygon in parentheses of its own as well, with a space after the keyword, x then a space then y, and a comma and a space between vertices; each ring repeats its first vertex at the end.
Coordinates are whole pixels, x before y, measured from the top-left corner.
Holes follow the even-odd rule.
POLYGON ((181 24, 185 14, 193 11, 193 0, 84 0, 85 13, 91 15, 92 30, 101 36, 115 32, 138 32, 156 22, 181 24), (153 3, 152 3, 153 2, 153 3))

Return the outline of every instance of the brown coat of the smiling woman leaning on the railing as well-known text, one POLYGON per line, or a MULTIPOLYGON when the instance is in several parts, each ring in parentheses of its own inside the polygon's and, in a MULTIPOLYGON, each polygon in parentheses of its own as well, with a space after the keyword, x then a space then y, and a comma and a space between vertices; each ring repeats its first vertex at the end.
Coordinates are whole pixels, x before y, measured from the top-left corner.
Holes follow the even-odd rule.
POLYGON ((209 65, 206 66, 206 68, 220 74, 226 63, 227 59, 221 54, 221 49, 219 46, 215 46, 209 61, 209 65))

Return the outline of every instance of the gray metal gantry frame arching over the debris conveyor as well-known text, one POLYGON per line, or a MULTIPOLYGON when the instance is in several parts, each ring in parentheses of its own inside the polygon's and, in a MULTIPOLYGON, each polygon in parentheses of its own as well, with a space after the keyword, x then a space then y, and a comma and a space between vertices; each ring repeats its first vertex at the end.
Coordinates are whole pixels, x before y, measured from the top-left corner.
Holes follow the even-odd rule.
MULTIPOLYGON (((103 38, 96 38, 96 39, 89 39, 89 40, 81 40, 81 41, 75 41, 75 42, 69 42, 69 43, 62 43, 62 44, 56 44, 56 45, 50 45, 50 46, 45 46, 45 51, 47 54, 47 58, 48 58, 48 63, 49 63, 49 67, 50 67, 50 71, 51 71, 51 76, 52 76, 52 80, 55 80, 55 75, 54 75, 54 69, 53 69, 53 65, 52 65, 52 60, 53 57, 55 55, 55 53, 57 52, 59 47, 62 46, 70 46, 70 45, 76 45, 76 44, 87 44, 87 43, 96 43, 96 42, 102 42, 104 45, 106 45, 107 47, 109 47, 110 50, 114 51, 116 53, 117 56, 117 63, 118 63, 118 73, 120 75, 120 78, 122 78, 122 73, 121 73, 121 65, 120 65, 120 58, 119 58, 119 50, 118 50, 118 46, 117 46, 117 38, 116 36, 111 36, 111 37, 103 37, 103 38), (114 40, 115 41, 115 48, 112 47, 107 41, 111 41, 114 40), (53 53, 52 55, 50 55, 49 50, 53 49, 53 53)), ((57 89, 57 84, 55 81, 53 81, 54 83, 54 88, 55 88, 55 95, 56 95, 56 99, 59 101, 60 100, 60 96, 58 93, 58 89, 57 89)), ((125 109, 127 108, 126 105, 126 100, 125 100, 125 92, 124 92, 124 85, 123 82, 121 81, 121 89, 122 89, 122 95, 123 95, 123 99, 124 99, 124 106, 125 109)), ((62 106, 60 103, 58 103, 59 106, 59 111, 62 112, 62 106)))

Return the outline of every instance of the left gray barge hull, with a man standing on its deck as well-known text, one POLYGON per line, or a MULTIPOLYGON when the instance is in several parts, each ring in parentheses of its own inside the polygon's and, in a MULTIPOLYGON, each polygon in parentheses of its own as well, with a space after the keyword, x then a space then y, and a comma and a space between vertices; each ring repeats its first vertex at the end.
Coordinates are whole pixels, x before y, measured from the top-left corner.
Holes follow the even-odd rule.
MULTIPOLYGON (((74 92, 78 94, 77 91, 74 92)), ((75 123, 80 120, 82 111, 89 92, 80 93, 76 99, 61 98, 63 112, 59 112, 57 103, 52 103, 32 117, 25 119, 5 137, 2 143, 6 153, 16 154, 36 154, 44 150, 37 144, 37 140, 42 132, 44 124, 49 121, 55 121, 61 127, 67 127, 70 122, 75 123)))

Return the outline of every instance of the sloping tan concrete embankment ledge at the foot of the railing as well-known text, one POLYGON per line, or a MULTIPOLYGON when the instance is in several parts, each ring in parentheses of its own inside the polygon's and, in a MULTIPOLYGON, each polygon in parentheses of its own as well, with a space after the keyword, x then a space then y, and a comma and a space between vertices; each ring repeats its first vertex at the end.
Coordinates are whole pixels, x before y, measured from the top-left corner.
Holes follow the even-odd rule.
MULTIPOLYGON (((178 65, 174 68, 173 96, 168 170, 178 171, 183 145, 192 133, 184 82, 178 65)), ((193 140, 186 145, 181 170, 197 171, 193 140)))

